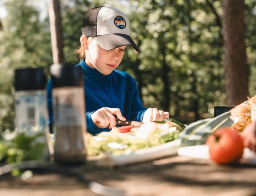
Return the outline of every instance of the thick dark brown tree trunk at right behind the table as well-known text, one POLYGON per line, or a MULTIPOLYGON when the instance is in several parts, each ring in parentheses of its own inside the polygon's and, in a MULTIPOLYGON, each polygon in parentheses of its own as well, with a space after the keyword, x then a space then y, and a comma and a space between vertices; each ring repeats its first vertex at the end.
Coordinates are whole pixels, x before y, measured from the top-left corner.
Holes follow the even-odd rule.
POLYGON ((225 81, 228 105, 248 96, 248 65, 245 53, 244 0, 223 0, 225 81))

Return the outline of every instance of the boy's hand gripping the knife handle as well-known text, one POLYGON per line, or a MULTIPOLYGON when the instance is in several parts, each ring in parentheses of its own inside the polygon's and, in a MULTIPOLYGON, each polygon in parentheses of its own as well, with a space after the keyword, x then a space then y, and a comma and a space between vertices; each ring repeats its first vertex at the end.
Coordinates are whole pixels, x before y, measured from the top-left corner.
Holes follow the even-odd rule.
POLYGON ((116 126, 116 118, 119 118, 121 121, 125 121, 126 118, 123 117, 121 110, 119 108, 110 108, 110 107, 102 107, 98 109, 94 113, 92 113, 91 118, 94 124, 99 128, 108 127, 111 129, 116 126))

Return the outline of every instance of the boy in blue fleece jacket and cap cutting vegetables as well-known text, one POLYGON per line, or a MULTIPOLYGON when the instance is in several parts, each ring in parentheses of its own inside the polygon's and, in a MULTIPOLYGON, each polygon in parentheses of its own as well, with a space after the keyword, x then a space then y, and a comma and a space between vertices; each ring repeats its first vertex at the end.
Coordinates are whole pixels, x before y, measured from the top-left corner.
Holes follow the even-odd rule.
MULTIPOLYGON (((169 117, 168 112, 143 107, 134 78, 126 72, 115 70, 122 61, 127 45, 139 52, 130 37, 129 20, 122 11, 109 5, 89 10, 84 16, 80 42, 81 47, 76 51, 81 61, 76 66, 83 69, 89 133, 95 135, 109 131, 116 126, 116 117, 122 121, 142 122, 163 121, 169 117)), ((51 80, 47 92, 48 106, 51 108, 51 80)))

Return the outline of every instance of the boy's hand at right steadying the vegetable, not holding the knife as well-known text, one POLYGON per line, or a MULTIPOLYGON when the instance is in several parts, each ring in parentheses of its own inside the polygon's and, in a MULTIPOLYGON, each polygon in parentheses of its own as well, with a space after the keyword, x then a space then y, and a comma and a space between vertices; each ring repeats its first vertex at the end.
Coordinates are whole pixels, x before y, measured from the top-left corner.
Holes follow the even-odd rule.
POLYGON ((163 121, 165 118, 169 118, 169 116, 169 112, 164 112, 157 108, 148 108, 144 113, 142 122, 163 121))

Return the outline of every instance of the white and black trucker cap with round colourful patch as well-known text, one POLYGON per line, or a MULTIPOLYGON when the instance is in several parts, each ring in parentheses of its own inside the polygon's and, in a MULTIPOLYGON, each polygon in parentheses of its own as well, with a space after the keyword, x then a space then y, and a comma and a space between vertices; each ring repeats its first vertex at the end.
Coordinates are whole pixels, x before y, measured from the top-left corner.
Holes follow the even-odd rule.
POLYGON ((92 8, 84 15, 82 34, 94 37, 105 50, 131 45, 139 52, 138 46, 131 38, 127 16, 120 9, 110 5, 92 8))

